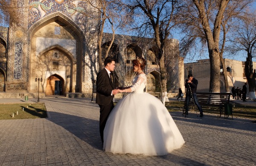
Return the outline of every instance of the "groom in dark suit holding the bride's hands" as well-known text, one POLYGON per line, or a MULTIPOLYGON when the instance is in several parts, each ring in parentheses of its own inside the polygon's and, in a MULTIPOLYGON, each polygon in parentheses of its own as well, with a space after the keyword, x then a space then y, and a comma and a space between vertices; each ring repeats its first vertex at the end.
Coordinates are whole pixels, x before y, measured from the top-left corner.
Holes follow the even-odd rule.
POLYGON ((99 133, 103 144, 103 132, 108 119, 108 115, 114 108, 113 95, 118 93, 119 89, 114 89, 111 79, 111 72, 115 69, 113 57, 106 57, 104 61, 105 68, 102 69, 96 80, 96 103, 99 104, 99 133))

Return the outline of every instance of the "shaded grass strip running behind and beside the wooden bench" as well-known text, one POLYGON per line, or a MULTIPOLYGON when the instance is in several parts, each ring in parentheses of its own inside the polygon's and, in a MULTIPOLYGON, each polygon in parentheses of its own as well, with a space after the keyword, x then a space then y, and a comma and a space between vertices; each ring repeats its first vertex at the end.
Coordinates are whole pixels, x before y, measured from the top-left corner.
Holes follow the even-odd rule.
MULTIPOLYGON (((183 111, 184 102, 171 101, 169 103, 166 103, 166 108, 168 109, 169 112, 183 111)), ((220 114, 220 111, 217 108, 209 108, 209 107, 203 106, 202 109, 204 112, 207 112, 207 113, 220 114)), ((245 118, 256 119, 256 106, 244 106, 244 105, 235 104, 235 107, 232 107, 232 112, 233 112, 233 117, 245 117, 245 118)), ((224 113, 223 113, 223 116, 224 116, 224 113)))

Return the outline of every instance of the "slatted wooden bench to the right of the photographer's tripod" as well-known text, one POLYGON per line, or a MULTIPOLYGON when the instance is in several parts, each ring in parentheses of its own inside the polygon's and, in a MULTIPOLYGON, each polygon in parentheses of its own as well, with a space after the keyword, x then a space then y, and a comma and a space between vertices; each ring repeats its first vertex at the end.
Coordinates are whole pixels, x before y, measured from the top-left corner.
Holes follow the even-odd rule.
POLYGON ((204 107, 214 107, 220 110, 220 115, 224 113, 224 118, 232 116, 232 105, 230 106, 231 93, 196 93, 198 103, 204 107), (226 108, 225 108, 226 107, 226 108))

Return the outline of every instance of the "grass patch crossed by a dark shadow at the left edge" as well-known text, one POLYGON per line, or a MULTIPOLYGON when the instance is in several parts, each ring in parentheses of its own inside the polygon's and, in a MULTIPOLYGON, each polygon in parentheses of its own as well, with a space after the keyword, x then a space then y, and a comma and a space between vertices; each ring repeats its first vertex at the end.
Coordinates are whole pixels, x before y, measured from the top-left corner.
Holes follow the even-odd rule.
POLYGON ((46 118, 44 103, 1 104, 0 120, 46 118), (23 111, 24 108, 24 111, 23 111), (18 112, 18 114, 17 114, 18 112), (12 117, 14 115, 14 117, 12 117))

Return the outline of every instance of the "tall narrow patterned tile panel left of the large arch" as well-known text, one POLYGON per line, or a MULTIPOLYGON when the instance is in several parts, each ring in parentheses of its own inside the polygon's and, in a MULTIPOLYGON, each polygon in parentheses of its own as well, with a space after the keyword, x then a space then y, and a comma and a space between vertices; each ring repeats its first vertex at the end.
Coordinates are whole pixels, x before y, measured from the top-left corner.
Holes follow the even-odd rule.
POLYGON ((15 43, 14 74, 15 80, 20 80, 22 74, 22 42, 15 43))

